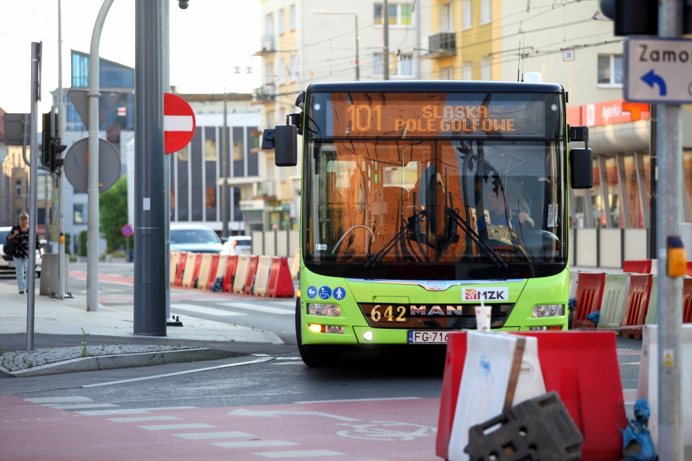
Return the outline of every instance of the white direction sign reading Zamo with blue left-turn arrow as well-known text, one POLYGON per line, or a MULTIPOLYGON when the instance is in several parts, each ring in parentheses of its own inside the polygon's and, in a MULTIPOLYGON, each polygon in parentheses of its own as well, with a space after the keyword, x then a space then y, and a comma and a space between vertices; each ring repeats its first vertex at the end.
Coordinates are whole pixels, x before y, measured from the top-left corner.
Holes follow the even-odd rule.
POLYGON ((692 103, 692 39, 627 37, 624 57, 625 100, 692 103))

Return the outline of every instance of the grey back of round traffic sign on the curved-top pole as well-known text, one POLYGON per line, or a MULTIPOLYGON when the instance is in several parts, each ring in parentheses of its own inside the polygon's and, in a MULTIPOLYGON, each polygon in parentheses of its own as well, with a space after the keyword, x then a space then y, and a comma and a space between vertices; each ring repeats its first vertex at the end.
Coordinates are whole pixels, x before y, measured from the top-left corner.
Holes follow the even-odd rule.
MULTIPOLYGON (((89 176, 89 138, 72 144, 65 155, 63 169, 72 187, 86 194, 89 176)), ((107 191, 120 178, 120 154, 107 140, 98 140, 98 193, 107 191)))

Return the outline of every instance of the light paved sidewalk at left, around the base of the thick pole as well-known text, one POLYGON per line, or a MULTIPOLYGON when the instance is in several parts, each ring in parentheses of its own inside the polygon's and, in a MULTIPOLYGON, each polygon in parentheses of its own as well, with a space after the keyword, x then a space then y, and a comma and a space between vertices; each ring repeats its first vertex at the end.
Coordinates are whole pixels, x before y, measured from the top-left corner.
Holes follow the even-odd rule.
MULTIPOLYGON (((86 297, 58 301, 38 296, 36 288, 34 332, 47 335, 101 335, 133 337, 133 306, 109 308, 100 304, 98 312, 86 311, 86 297)), ((18 294, 14 283, 0 283, 0 335, 26 333, 26 294, 18 294)), ((270 331, 253 330, 229 323, 179 316, 183 327, 167 328, 167 339, 193 341, 235 341, 283 344, 270 331)), ((140 337, 139 335, 137 337, 140 337)), ((161 338, 161 337, 158 337, 161 338)))

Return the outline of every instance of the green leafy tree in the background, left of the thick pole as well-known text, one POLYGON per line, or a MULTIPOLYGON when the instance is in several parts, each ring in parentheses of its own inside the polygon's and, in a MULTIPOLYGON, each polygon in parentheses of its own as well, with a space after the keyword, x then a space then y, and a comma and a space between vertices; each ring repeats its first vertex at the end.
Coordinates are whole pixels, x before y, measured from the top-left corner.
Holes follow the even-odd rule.
POLYGON ((127 224, 127 176, 98 196, 99 229, 106 239, 106 252, 112 253, 125 247, 125 237, 120 233, 127 224))

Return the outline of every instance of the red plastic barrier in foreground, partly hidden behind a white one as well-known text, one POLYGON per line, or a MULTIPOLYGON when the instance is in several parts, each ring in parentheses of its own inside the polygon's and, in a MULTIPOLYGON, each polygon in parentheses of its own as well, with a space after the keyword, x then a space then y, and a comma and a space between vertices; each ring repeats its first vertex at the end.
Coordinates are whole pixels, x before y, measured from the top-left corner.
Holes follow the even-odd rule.
MULTIPOLYGON (((625 427, 627 419, 615 333, 572 331, 515 334, 538 339, 538 359, 546 391, 555 391, 560 395, 583 435, 582 459, 621 460, 622 435, 617 429, 625 427)), ((446 459, 466 360, 466 335, 466 332, 450 332, 447 336, 435 444, 437 455, 446 459)))

